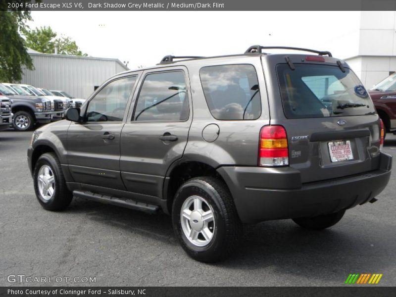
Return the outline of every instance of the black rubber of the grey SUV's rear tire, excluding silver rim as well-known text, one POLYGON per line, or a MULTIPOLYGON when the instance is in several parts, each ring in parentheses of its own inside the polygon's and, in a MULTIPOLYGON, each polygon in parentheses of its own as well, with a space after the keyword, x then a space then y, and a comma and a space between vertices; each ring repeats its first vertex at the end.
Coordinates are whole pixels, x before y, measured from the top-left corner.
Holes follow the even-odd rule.
MULTIPOLYGON (((236 249, 242 236, 242 223, 231 193, 223 182, 213 177, 193 178, 179 188, 173 201, 172 223, 183 249, 189 256, 201 262, 212 263, 226 259, 236 249), (182 206, 193 196, 203 198, 205 200, 203 204, 207 203, 213 210, 213 233, 211 240, 205 246, 193 244, 182 227, 182 206)), ((189 223, 189 226, 192 225, 189 223)))

